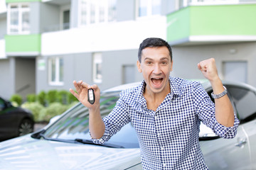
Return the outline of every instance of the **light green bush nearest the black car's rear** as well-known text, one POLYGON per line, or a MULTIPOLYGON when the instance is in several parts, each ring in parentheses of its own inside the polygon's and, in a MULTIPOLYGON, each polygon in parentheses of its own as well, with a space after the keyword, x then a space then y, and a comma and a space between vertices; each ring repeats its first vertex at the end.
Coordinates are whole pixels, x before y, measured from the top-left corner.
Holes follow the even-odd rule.
POLYGON ((30 110, 33 114, 34 120, 36 122, 41 122, 43 119, 41 119, 41 111, 44 109, 43 105, 38 102, 26 102, 21 105, 21 108, 26 108, 30 110))

